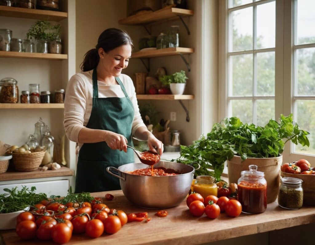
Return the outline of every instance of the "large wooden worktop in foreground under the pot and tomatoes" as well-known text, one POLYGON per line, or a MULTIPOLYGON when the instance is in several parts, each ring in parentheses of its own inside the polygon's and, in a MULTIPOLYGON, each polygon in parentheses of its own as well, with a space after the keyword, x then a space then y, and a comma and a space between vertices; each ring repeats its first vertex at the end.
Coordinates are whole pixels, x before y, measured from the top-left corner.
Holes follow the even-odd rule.
MULTIPOLYGON (((160 218, 154 215, 156 209, 132 205, 121 190, 92 195, 104 199, 106 193, 115 196, 113 201, 104 201, 108 207, 126 213, 148 212, 151 221, 127 223, 116 234, 104 233, 95 239, 85 234, 73 234, 67 244, 199 244, 315 223, 315 207, 287 210, 279 207, 277 202, 268 204, 267 210, 261 214, 242 213, 237 218, 231 218, 221 213, 217 219, 211 220, 205 214, 200 218, 193 217, 184 200, 179 206, 167 209, 167 217, 160 218)), ((35 238, 22 241, 14 230, 1 231, 0 234, 1 245, 55 244, 52 241, 40 241, 35 238)))

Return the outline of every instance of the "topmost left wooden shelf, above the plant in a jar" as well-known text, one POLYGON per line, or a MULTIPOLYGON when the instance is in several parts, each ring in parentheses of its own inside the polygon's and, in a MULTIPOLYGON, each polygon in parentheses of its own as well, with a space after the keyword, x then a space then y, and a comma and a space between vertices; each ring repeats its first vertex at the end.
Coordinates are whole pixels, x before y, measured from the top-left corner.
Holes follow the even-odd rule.
POLYGON ((68 13, 41 9, 15 8, 0 6, 0 16, 35 20, 60 21, 68 18, 68 13))

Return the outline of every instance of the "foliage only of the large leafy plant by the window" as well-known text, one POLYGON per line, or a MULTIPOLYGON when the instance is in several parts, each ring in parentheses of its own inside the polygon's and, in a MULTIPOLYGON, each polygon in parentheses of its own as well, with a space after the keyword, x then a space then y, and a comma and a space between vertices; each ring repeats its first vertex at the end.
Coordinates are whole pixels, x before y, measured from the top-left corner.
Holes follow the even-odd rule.
POLYGON ((282 154, 284 144, 292 141, 302 146, 309 146, 307 135, 297 123, 293 123, 293 115, 281 114, 280 122, 269 120, 265 127, 254 124, 243 124, 237 117, 226 118, 216 123, 207 137, 202 136, 190 146, 180 146, 178 162, 198 162, 201 166, 196 175, 212 175, 220 179, 224 162, 233 155, 268 158, 282 154), (285 139, 285 141, 283 140, 285 139), (214 172, 209 172, 208 168, 214 172))

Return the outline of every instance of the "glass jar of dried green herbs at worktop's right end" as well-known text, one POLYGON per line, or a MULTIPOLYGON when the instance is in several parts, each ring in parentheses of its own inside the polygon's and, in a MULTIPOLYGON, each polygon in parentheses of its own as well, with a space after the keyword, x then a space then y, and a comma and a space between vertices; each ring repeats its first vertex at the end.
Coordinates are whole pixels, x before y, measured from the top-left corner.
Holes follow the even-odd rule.
POLYGON ((278 204, 287 209, 299 209, 303 205, 303 180, 286 177, 281 179, 278 204))

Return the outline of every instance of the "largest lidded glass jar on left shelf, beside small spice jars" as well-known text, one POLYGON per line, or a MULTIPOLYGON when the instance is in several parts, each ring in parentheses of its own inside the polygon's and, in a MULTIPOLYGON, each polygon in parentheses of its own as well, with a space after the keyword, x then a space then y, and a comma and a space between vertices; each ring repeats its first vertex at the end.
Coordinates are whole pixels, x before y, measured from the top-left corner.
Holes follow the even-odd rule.
POLYGON ((0 80, 0 103, 17 103, 19 101, 19 87, 14 78, 0 80))

